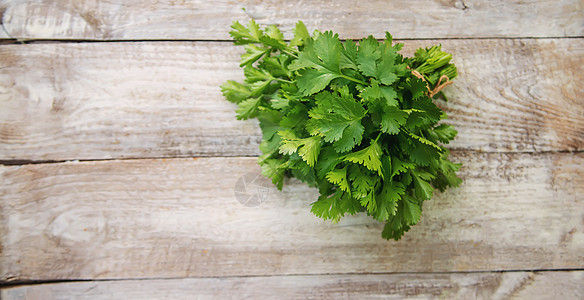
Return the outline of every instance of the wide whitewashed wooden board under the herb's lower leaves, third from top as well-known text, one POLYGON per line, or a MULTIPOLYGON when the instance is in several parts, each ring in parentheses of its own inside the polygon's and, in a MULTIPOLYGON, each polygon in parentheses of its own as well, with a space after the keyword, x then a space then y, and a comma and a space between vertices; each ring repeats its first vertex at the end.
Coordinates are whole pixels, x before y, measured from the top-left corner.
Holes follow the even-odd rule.
POLYGON ((297 181, 275 190, 255 158, 1 167, 0 278, 584 267, 584 153, 453 161, 464 164, 462 186, 427 201, 398 242, 366 215, 316 218, 316 190, 297 181))

